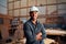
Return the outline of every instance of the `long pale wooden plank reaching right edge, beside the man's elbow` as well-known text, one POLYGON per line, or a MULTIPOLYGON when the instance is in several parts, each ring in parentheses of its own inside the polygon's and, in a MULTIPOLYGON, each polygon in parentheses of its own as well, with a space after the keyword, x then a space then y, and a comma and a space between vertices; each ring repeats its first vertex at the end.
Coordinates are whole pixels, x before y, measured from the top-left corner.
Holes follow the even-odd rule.
POLYGON ((61 30, 46 30, 47 35, 66 35, 66 31, 61 30))

